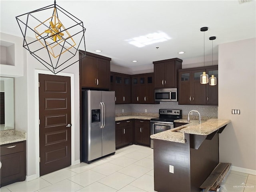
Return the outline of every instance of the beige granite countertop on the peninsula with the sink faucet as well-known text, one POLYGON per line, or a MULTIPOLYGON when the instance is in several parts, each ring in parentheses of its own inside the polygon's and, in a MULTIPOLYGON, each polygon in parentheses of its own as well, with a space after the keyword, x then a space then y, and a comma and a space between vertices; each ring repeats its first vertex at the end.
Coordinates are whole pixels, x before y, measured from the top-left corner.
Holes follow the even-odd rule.
POLYGON ((188 124, 151 135, 150 138, 178 143, 186 143, 184 135, 185 133, 196 135, 209 135, 212 132, 230 123, 231 120, 209 119, 206 121, 201 121, 201 124, 199 124, 198 120, 190 120, 190 122, 188 122, 186 119, 179 119, 175 120, 174 122, 188 124))

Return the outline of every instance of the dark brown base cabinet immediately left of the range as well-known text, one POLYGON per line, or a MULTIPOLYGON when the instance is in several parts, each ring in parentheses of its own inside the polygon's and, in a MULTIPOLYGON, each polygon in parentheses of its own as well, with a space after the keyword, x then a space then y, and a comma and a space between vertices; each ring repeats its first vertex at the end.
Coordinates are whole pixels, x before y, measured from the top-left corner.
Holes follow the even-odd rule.
POLYGON ((134 143, 150 146, 149 120, 134 120, 134 143))

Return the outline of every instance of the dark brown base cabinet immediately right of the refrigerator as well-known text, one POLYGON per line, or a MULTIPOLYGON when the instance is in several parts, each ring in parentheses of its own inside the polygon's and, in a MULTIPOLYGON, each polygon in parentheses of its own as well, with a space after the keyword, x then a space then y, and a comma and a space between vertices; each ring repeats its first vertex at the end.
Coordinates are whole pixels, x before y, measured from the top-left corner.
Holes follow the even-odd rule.
POLYGON ((133 120, 116 122, 116 149, 132 144, 133 142, 133 120))

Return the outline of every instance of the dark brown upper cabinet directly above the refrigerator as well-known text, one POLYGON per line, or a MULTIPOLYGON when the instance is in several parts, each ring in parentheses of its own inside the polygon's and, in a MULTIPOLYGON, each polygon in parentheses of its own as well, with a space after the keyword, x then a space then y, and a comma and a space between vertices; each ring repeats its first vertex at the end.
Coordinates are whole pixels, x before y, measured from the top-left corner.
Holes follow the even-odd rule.
POLYGON ((86 57, 79 61, 80 81, 83 88, 110 88, 111 58, 86 52, 86 57))

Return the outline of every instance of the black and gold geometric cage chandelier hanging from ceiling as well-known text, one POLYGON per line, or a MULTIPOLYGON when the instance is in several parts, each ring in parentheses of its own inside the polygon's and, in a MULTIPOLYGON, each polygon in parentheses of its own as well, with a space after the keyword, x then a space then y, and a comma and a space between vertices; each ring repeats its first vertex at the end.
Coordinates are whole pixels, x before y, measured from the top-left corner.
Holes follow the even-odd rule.
POLYGON ((83 22, 58 6, 56 0, 50 6, 16 16, 16 20, 23 47, 54 74, 86 57, 83 22), (79 59, 78 52, 82 54, 79 59))

